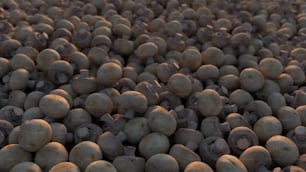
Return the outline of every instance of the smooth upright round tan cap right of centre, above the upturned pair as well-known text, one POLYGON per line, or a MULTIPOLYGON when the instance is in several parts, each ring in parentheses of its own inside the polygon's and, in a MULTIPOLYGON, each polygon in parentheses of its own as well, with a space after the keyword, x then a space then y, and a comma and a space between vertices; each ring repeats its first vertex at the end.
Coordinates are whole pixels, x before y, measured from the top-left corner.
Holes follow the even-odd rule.
POLYGON ((198 99, 198 108, 203 116, 218 116, 223 109, 219 93, 212 89, 203 90, 198 99))

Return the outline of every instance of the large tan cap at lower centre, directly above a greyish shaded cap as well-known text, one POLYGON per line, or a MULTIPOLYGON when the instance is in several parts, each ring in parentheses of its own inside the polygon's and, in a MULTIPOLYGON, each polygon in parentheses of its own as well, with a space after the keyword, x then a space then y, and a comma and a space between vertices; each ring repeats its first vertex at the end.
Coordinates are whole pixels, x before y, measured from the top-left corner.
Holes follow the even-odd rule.
POLYGON ((171 136, 177 127, 175 117, 161 106, 156 106, 150 111, 148 123, 152 131, 171 136))

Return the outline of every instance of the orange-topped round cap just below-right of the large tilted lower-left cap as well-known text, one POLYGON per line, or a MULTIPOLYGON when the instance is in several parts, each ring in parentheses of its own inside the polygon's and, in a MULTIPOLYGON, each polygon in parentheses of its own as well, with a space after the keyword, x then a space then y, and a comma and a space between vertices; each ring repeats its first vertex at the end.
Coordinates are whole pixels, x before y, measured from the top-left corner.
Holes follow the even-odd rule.
POLYGON ((64 145, 58 142, 50 142, 44 145, 36 152, 34 162, 42 168, 43 171, 48 171, 55 164, 68 160, 68 152, 64 145), (46 158, 48 157, 48 158, 46 158))

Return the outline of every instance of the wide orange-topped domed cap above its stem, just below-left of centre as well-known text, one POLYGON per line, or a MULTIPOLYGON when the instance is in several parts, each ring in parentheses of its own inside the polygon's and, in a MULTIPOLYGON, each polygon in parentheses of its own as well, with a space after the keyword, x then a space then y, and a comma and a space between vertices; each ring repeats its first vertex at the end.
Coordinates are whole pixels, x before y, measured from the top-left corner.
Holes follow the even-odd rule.
POLYGON ((147 110, 146 97, 138 91, 126 91, 118 97, 118 111, 134 110, 144 113, 147 110))

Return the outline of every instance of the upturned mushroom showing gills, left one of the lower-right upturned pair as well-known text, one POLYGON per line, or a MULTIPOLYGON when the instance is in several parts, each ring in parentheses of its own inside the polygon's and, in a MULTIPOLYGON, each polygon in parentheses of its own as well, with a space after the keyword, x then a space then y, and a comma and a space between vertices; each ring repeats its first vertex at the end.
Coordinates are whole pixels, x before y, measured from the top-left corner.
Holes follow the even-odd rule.
POLYGON ((211 167, 215 167, 215 163, 224 154, 230 154, 230 148, 226 141, 217 136, 210 136, 203 139, 199 145, 199 155, 204 162, 211 167))

